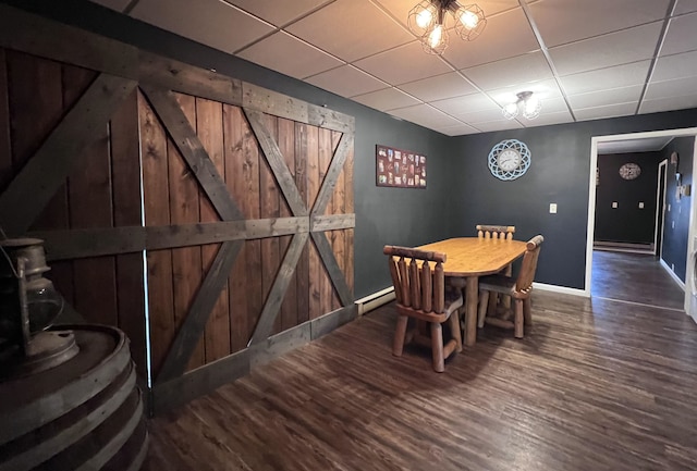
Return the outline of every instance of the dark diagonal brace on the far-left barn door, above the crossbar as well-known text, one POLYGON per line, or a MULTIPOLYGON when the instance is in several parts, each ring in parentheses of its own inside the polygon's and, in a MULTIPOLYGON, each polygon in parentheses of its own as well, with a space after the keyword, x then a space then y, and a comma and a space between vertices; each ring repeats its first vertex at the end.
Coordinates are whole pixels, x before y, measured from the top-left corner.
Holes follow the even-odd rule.
POLYGON ((23 234, 63 184, 83 149, 98 135, 135 82, 100 74, 0 195, 0 221, 23 234), (47 171, 50 169, 50 171, 47 171), (17 208, 22 211, 17 211, 17 208))

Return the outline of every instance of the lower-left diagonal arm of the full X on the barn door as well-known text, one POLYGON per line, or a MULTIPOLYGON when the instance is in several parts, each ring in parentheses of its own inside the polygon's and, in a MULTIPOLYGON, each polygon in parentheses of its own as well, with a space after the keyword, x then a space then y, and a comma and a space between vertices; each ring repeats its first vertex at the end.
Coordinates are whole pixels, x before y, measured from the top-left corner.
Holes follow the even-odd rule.
POLYGON ((266 299, 264 309, 261 310, 261 315, 259 317, 259 322, 257 323, 254 334, 252 335, 252 339, 249 340, 249 346, 264 342, 269 337, 276 317, 281 308, 281 302, 285 297, 285 290, 288 289, 293 272, 295 271, 297 259, 299 258, 306 241, 307 233, 298 233, 293 236, 293 240, 285 252, 278 276, 273 280, 273 286, 266 299))

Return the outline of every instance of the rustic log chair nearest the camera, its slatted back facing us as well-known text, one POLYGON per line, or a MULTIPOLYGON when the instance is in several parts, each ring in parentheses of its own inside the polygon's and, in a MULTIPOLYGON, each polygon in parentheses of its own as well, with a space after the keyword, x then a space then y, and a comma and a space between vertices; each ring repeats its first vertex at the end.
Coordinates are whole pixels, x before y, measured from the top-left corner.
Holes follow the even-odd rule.
POLYGON ((457 309, 463 305, 463 299, 458 289, 445 289, 445 253, 394 246, 384 246, 383 252, 390 263, 400 314, 392 354, 401 357, 404 344, 409 342, 430 346, 433 370, 442 373, 445 358, 453 351, 462 351, 457 309), (405 259, 411 259, 408 267, 405 259), (432 269, 430 262, 436 263, 432 269), (415 318, 417 325, 407 332, 408 318, 415 318), (450 321, 452 338, 443 346, 442 324, 445 321, 450 321), (430 338, 427 324, 430 325, 430 338))

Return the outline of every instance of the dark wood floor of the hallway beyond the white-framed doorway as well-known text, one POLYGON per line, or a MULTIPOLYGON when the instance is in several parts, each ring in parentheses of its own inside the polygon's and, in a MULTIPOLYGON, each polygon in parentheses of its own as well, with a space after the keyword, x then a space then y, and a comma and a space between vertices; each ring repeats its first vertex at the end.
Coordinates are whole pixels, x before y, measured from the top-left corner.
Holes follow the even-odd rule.
POLYGON ((590 293, 594 297, 684 309, 684 292, 651 255, 594 250, 590 293))

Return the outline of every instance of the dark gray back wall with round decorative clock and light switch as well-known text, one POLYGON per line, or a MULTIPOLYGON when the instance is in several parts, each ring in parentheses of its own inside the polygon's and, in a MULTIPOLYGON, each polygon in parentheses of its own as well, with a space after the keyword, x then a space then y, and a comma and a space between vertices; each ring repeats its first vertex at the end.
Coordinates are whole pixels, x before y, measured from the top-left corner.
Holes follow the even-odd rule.
MULTIPOLYGON (((697 109, 692 109, 455 137, 457 185, 450 211, 460 215, 455 232, 472 235, 476 224, 491 223, 515 225, 519 239, 540 233, 545 245, 536 281, 583 289, 591 137, 696 125, 697 109), (522 140, 533 154, 528 172, 513 182, 494 178, 487 166, 489 151, 503 139, 522 140), (551 202, 558 204, 557 214, 549 213, 551 202)), ((692 169, 685 166, 684 177, 692 181, 692 169)), ((686 248, 682 256, 678 251, 675 267, 687 257, 686 248)))

